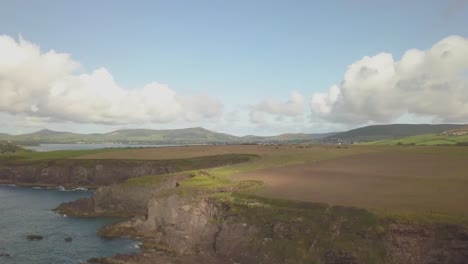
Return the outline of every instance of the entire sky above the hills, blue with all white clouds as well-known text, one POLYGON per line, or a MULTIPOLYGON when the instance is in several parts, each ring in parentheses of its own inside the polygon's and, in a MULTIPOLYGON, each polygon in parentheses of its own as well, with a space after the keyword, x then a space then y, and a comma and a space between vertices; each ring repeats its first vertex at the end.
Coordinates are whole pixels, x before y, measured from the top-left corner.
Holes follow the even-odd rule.
POLYGON ((0 0, 0 132, 468 123, 468 0, 0 0))

